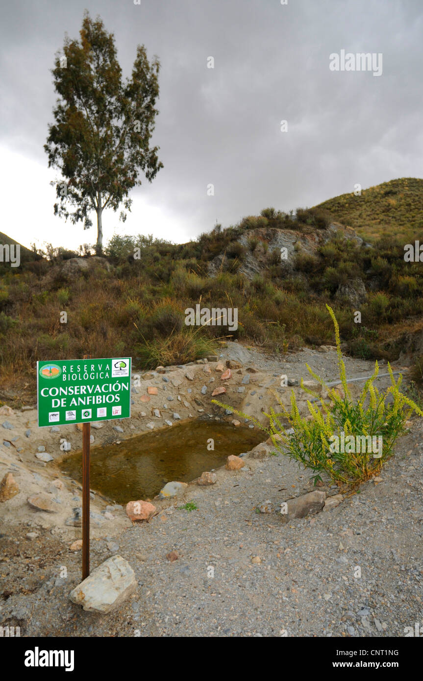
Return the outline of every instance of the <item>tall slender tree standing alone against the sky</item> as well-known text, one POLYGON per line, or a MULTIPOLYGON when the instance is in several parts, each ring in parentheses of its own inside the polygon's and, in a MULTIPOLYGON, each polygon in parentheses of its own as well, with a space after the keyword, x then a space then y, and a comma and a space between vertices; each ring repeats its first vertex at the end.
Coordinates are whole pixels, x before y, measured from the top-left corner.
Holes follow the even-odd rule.
POLYGON ((64 178, 51 183, 59 199, 54 215, 70 215, 72 223, 84 221, 88 229, 93 224, 89 214, 95 210, 97 254, 102 251, 104 208, 116 211, 123 204, 131 210, 128 193, 141 185, 140 172, 151 182, 163 168, 159 147, 149 146, 158 113, 159 67, 157 57, 149 63, 144 45, 138 45, 131 78, 123 82, 114 35, 89 12, 84 14, 80 42, 65 37, 63 54, 56 55, 52 74, 59 98, 44 144, 48 167, 58 168, 64 178))

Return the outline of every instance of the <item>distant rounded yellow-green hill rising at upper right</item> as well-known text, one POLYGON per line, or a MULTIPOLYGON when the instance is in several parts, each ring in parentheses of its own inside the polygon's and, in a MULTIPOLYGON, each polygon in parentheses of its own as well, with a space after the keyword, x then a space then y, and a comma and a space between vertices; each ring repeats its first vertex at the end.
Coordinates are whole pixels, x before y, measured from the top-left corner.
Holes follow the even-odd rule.
POLYGON ((423 236, 423 180, 401 178, 376 187, 341 194, 316 206, 328 210, 332 218, 356 230, 364 240, 373 242, 390 234, 404 243, 423 236))

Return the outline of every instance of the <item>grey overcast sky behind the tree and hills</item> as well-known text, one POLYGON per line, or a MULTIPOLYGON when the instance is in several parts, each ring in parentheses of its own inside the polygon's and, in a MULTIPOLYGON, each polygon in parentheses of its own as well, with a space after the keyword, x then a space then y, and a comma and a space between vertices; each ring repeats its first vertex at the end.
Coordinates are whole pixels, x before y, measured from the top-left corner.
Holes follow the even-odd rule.
POLYGON ((114 33, 124 76, 137 44, 161 61, 164 168, 131 192, 124 225, 104 211, 105 241, 120 230, 185 242, 266 206, 423 176, 422 0, 1 0, 0 231, 27 246, 97 236, 94 213, 87 232, 54 217, 43 148, 54 54, 65 33, 79 37, 85 8, 114 33), (381 76, 331 71, 341 50, 380 52, 381 76))

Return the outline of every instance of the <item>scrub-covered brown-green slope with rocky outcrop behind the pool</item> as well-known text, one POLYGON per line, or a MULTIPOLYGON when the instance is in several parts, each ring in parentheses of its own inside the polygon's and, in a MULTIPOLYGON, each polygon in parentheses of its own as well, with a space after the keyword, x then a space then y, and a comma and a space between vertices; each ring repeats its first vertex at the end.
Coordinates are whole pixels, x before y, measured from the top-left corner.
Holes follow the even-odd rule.
MULTIPOLYGON (((131 355, 135 366, 149 369, 213 354, 228 339, 281 357, 304 345, 332 345, 326 304, 339 319, 346 352, 387 360, 403 353, 405 361, 406 351, 409 361, 423 353, 423 272, 419 262, 405 262, 404 238, 394 235, 423 180, 367 190, 357 232, 378 215, 371 192, 383 206, 394 195, 386 192, 400 185, 405 191, 405 182, 414 187, 412 199, 402 198, 390 215, 389 238, 382 228, 376 238, 373 225, 373 244, 334 221, 338 197, 333 206, 298 208, 295 216, 265 208, 186 244, 114 236, 104 257, 29 251, 20 268, 0 270, 0 398, 34 390, 37 360, 131 355), (238 328, 187 326, 185 310, 199 302, 236 308, 238 328)), ((347 221, 345 215, 339 208, 336 218, 347 221)))

